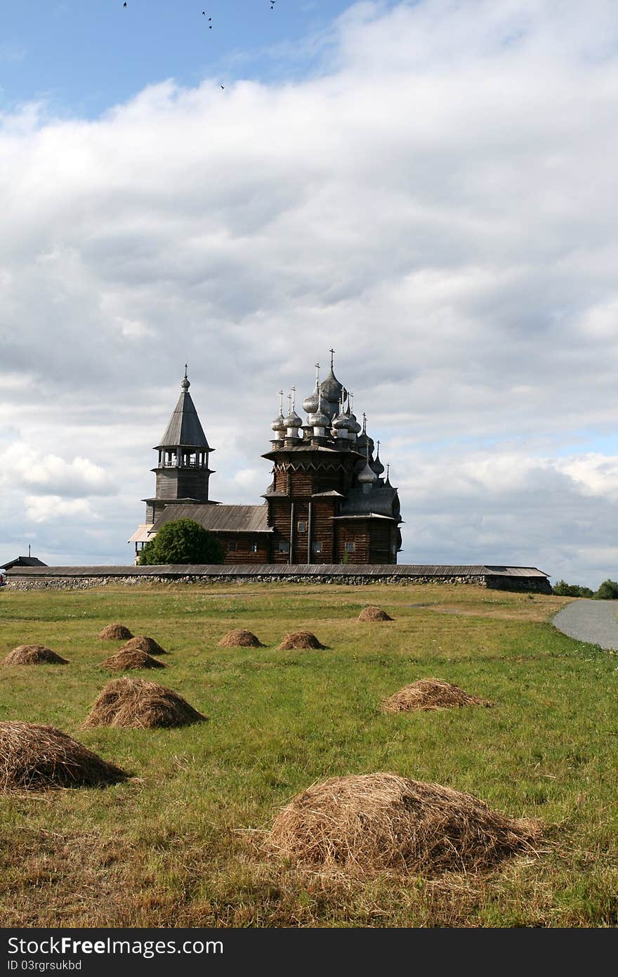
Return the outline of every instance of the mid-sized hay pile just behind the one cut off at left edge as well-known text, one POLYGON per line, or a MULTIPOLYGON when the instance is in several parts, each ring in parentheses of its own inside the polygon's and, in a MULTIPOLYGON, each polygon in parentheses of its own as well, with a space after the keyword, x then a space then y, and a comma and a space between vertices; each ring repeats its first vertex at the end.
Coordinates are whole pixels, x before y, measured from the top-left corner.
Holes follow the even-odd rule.
POLYGON ((115 678, 88 713, 84 726, 155 729, 188 726, 206 719, 172 689, 143 678, 115 678))

